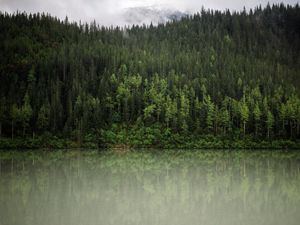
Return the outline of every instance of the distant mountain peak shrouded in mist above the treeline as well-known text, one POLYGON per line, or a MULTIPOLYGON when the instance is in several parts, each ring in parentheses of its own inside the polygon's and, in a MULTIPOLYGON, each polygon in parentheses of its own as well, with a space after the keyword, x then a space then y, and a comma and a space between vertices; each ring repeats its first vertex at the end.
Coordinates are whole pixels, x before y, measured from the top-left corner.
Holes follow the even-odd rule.
POLYGON ((155 6, 127 8, 122 17, 129 24, 161 24, 167 21, 180 20, 187 13, 155 6))

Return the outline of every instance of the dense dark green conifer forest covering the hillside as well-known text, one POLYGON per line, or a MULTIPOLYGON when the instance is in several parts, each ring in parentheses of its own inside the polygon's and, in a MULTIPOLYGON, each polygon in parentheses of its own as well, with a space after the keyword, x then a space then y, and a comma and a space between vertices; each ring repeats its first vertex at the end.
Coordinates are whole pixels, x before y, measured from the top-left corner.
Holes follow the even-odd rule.
POLYGON ((2 139, 300 138, 298 4, 130 27, 2 12, 0 40, 2 139))

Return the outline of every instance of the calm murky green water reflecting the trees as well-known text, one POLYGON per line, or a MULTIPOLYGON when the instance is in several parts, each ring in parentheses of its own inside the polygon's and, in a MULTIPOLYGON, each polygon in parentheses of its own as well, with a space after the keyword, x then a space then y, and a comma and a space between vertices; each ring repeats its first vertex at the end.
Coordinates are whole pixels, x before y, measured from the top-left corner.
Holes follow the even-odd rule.
POLYGON ((0 152, 0 225, 292 225, 300 152, 0 152))

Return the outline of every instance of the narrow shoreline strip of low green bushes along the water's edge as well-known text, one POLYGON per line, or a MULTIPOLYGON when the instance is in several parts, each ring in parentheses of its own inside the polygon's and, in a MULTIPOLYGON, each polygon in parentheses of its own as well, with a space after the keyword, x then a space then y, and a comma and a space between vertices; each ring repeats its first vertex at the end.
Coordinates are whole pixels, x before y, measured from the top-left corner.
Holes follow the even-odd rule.
POLYGON ((138 139, 127 140, 122 142, 110 141, 83 141, 78 142, 68 138, 51 137, 44 139, 42 137, 32 138, 10 138, 0 139, 0 150, 17 150, 17 149, 112 149, 118 151, 127 151, 128 149, 215 149, 215 150, 299 150, 300 140, 254 140, 250 138, 245 139, 229 139, 222 137, 192 137, 190 140, 183 141, 176 139, 162 139, 156 143, 143 143, 138 139))

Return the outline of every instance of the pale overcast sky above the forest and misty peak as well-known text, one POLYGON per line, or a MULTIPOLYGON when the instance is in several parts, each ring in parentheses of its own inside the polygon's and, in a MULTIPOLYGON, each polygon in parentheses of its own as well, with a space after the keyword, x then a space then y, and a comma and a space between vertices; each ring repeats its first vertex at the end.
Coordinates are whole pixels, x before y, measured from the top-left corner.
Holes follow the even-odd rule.
POLYGON ((296 4, 299 0, 0 0, 0 11, 48 12, 53 16, 70 20, 92 21, 103 25, 123 25, 122 13, 132 7, 155 6, 183 12, 206 9, 240 10, 253 8, 268 2, 296 4))

